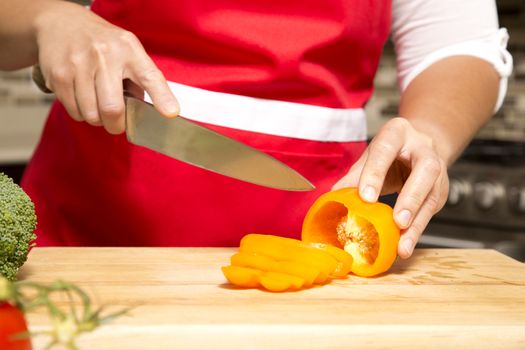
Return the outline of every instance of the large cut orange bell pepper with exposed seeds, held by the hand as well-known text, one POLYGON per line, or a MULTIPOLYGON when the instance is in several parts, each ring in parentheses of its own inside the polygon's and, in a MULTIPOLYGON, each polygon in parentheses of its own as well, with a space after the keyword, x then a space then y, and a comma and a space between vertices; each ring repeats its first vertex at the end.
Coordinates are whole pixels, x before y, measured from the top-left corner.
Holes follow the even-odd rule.
POLYGON ((392 208, 361 200, 356 188, 320 196, 308 210, 302 228, 303 241, 325 243, 350 253, 352 273, 364 277, 392 266, 399 236, 392 208))

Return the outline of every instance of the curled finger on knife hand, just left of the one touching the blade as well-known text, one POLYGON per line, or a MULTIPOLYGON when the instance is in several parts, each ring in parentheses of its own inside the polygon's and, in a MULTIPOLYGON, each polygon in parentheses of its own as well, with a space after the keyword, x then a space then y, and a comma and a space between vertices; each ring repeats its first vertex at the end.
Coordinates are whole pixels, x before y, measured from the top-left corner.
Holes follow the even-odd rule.
POLYGON ((82 118, 90 125, 100 126, 97 95, 95 92, 95 74, 83 71, 75 79, 75 100, 82 118))

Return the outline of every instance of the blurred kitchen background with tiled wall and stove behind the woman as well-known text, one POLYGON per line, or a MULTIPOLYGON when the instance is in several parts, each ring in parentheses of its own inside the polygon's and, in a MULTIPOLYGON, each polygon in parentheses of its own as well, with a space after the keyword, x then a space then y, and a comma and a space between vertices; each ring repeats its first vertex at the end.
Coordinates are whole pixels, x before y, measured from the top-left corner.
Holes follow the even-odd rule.
MULTIPOLYGON (((507 98, 450 168, 448 202, 419 246, 494 248, 525 261, 525 1, 497 3, 514 57, 507 98)), ((398 110, 390 44, 376 86, 367 106, 370 138, 398 110)), ((52 100, 32 84, 29 70, 0 72, 0 171, 16 181, 38 142, 52 100)))

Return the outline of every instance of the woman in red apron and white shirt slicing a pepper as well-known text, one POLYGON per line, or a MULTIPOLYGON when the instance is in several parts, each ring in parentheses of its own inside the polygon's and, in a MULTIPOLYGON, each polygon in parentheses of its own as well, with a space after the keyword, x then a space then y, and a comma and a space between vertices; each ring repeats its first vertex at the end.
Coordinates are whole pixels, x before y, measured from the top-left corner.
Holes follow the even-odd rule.
POLYGON ((0 68, 39 61, 60 101, 23 182, 40 245, 297 236, 317 196, 358 186, 370 202, 399 192, 407 258, 446 200, 447 165, 500 105, 512 66, 493 0, 96 0, 91 10, 0 5, 0 68), (366 147, 362 108, 389 33, 400 117, 366 147), (130 145, 123 80, 166 117, 180 103, 184 116, 286 162, 316 191, 262 188, 130 145))

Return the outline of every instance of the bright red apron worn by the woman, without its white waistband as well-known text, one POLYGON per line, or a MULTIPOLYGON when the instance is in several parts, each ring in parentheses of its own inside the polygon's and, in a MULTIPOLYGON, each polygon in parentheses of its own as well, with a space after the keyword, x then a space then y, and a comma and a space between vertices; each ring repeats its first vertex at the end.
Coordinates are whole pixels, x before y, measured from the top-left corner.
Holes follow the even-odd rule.
MULTIPOLYGON (((345 109, 362 108, 372 93, 390 7, 389 0, 98 0, 92 9, 134 32, 170 81, 345 109)), ((36 204, 37 244, 234 246, 250 232, 299 237, 308 207, 366 145, 210 127, 285 162, 317 189, 280 191, 207 172, 75 122, 55 103, 23 179, 36 204)))

